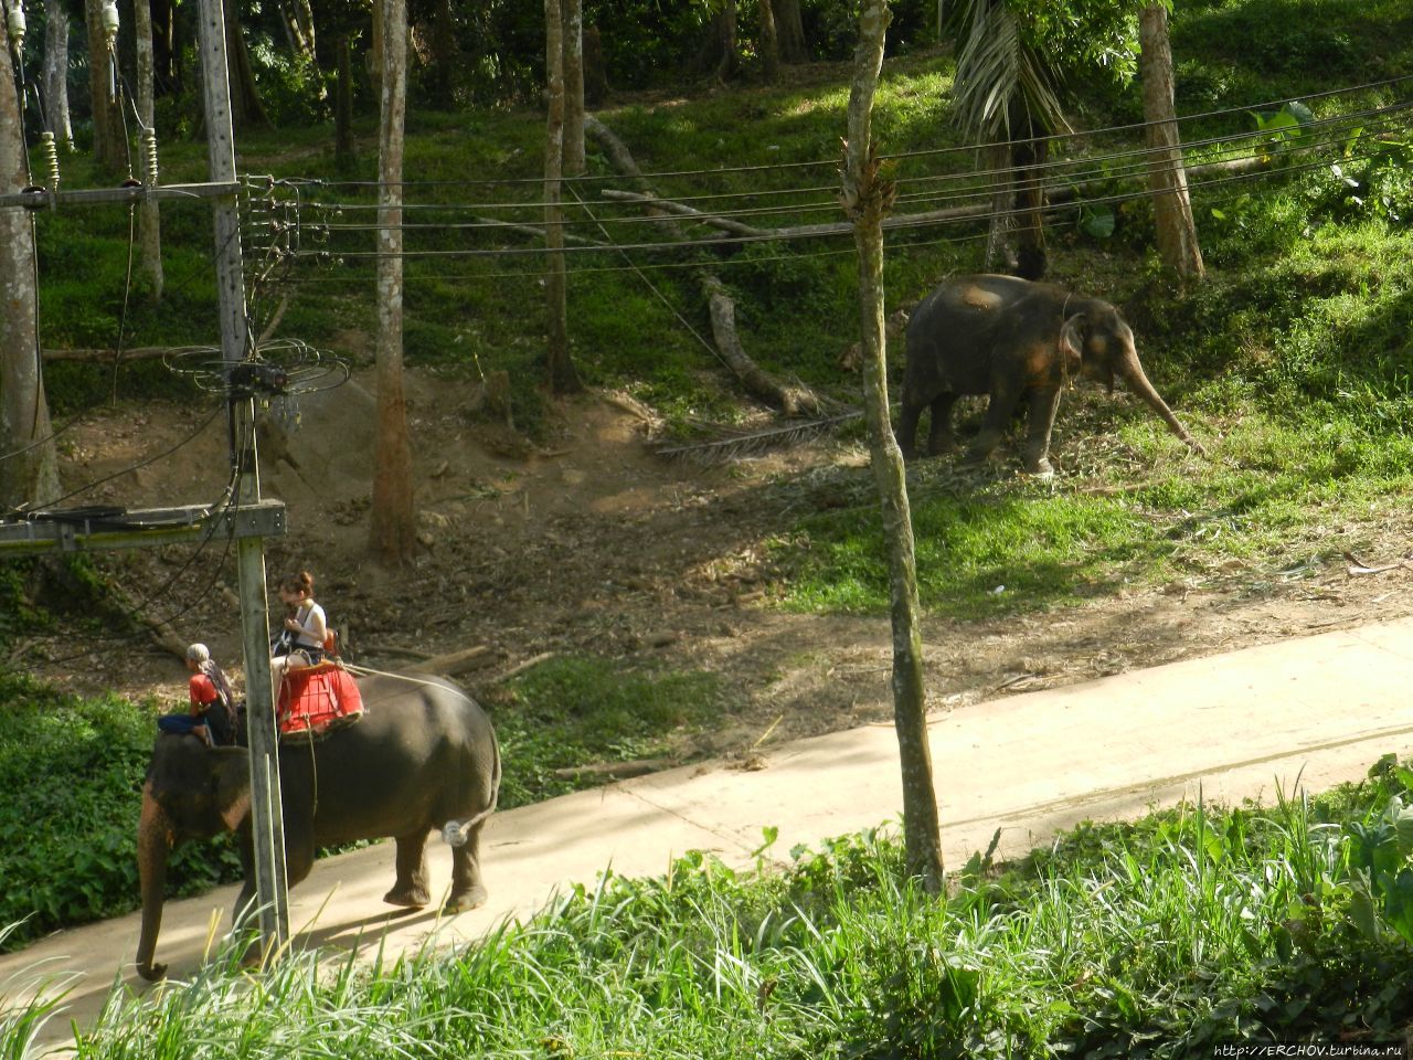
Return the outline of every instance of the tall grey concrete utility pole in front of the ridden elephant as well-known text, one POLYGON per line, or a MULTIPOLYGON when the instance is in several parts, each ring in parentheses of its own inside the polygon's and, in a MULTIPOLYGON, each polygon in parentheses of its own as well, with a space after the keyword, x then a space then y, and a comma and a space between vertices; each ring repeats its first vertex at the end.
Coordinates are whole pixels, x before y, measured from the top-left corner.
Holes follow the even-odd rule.
MULTIPOLYGON (((226 21, 222 0, 201 0, 201 68, 206 100, 206 154, 211 179, 236 178, 235 131, 230 117, 230 82, 226 73, 226 21)), ((260 502, 260 468, 256 452, 254 399, 230 386, 237 365, 253 358, 246 318, 246 288, 240 274, 240 218, 236 198, 216 199, 216 284, 220 300, 220 355, 226 365, 230 403, 232 457, 240 472, 236 502, 260 502)), ((240 628, 246 654, 246 707, 250 738, 252 834, 256 855, 256 902, 260 941, 266 955, 290 937, 290 893, 284 861, 284 817, 280 801, 280 734, 270 685, 270 609, 266 598, 264 541, 244 537, 237 543, 240 565, 240 628)), ((237 914, 243 910, 237 910, 237 914)))

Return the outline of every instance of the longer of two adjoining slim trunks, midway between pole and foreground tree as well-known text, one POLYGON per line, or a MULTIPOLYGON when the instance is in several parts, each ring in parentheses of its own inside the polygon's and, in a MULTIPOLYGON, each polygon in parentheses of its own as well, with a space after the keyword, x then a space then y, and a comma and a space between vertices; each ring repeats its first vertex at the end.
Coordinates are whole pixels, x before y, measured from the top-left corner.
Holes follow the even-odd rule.
POLYGON ((564 172, 564 10, 560 0, 544 0, 545 76, 550 88, 550 114, 545 120, 544 146, 544 245, 548 274, 544 283, 547 360, 550 389, 572 394, 584 389, 569 358, 568 278, 564 267, 564 209, 560 206, 564 172))

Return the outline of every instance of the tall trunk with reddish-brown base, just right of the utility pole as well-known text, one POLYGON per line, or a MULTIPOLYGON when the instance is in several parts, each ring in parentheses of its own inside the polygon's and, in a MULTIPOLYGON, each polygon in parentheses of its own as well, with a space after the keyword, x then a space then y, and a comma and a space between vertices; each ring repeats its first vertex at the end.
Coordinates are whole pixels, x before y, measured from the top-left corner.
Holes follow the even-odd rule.
POLYGON ((383 96, 379 122, 377 208, 377 452, 373 471, 372 551, 389 567, 417 548, 413 454, 403 390, 403 140, 407 114, 407 3, 383 0, 383 96))

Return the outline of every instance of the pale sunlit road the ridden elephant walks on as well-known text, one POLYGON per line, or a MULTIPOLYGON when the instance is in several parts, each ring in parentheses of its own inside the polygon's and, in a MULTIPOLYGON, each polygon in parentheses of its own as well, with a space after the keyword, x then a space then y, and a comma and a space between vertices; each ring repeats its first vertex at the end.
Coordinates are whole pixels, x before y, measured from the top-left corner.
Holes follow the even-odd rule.
MULTIPOLYGON (((931 722, 944 854, 958 866, 1000 830, 1016 855, 1085 818, 1137 815, 1198 791, 1210 801, 1270 800, 1297 783, 1321 790, 1364 776, 1413 739, 1413 619, 1284 640, 1241 652, 993 700, 931 722)), ((560 888, 606 868, 657 875, 688 849, 747 865, 763 828, 769 856, 797 844, 896 820, 897 743, 875 724, 797 741, 766 767, 723 762, 675 769, 497 814, 485 835, 490 903, 454 920, 382 903, 390 844, 326 859, 291 896, 298 944, 390 951, 472 940, 504 917, 523 919, 560 888)), ((451 858, 434 847, 434 890, 451 858)), ((227 929, 235 888, 167 906, 158 960, 179 981, 208 938, 227 929)), ((0 958, 0 994, 71 977, 62 1019, 92 1020, 114 982, 148 991, 133 970, 136 914, 51 936, 0 958), (6 985, 7 984, 7 985, 6 985)))

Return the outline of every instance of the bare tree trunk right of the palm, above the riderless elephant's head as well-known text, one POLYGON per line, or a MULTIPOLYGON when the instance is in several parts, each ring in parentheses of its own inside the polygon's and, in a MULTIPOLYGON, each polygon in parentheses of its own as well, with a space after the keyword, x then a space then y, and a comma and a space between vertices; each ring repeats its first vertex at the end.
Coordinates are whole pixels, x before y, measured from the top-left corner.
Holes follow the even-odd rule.
POLYGON ((1186 283, 1201 280, 1202 252, 1197 245, 1187 171, 1173 110, 1173 49, 1167 37, 1167 8, 1152 4, 1139 13, 1139 65, 1143 76, 1143 119, 1147 123, 1149 188, 1163 264, 1186 283))

